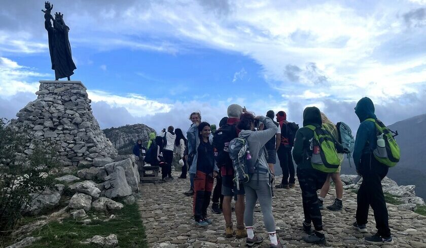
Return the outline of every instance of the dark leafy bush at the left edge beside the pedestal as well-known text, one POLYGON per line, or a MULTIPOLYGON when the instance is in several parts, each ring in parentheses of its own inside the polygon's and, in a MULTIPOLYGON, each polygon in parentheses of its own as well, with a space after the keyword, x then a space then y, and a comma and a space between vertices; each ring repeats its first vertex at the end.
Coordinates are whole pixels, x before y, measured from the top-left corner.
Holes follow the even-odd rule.
POLYGON ((52 187, 54 176, 50 172, 59 164, 51 144, 31 142, 27 128, 18 132, 7 124, 6 119, 0 118, 0 231, 3 234, 15 228, 34 198, 52 187), (28 149, 30 144, 32 149, 28 149))

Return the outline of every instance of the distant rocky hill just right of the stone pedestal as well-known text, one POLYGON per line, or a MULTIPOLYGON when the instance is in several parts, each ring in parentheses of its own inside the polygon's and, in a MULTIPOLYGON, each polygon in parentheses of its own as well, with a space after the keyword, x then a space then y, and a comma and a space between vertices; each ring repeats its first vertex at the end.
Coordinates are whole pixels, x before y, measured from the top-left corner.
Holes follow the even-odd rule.
POLYGON ((146 145, 151 132, 155 133, 155 130, 144 124, 126 125, 103 130, 105 136, 110 139, 120 155, 131 154, 132 148, 138 139, 141 139, 142 144, 146 145))

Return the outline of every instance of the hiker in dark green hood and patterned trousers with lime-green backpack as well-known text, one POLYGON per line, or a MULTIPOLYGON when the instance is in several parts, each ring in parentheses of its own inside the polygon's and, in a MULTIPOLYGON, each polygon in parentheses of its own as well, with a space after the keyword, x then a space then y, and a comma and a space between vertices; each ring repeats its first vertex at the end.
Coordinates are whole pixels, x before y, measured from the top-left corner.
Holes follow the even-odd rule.
POLYGON ((341 144, 322 128, 321 113, 317 107, 307 107, 303 111, 303 128, 296 132, 293 158, 297 164, 297 178, 302 190, 302 205, 305 220, 303 231, 308 234, 303 239, 307 243, 324 244, 323 220, 319 211, 316 194, 327 179, 328 173, 335 173, 340 160, 337 153, 344 151, 341 144), (313 223, 315 231, 311 231, 313 223))

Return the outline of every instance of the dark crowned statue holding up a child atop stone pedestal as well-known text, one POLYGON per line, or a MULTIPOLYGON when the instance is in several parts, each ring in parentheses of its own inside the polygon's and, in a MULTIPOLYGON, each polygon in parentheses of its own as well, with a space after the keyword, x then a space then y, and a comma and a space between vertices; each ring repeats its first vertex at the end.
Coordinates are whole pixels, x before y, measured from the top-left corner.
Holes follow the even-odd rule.
POLYGON ((67 77, 68 80, 77 69, 71 56, 71 46, 69 45, 68 31, 69 27, 63 21, 63 14, 56 13, 55 18, 50 14, 53 4, 45 3, 46 10, 42 10, 45 15, 45 28, 49 37, 50 60, 52 61, 52 70, 55 70, 55 80, 67 77), (53 21, 53 27, 50 20, 53 21))

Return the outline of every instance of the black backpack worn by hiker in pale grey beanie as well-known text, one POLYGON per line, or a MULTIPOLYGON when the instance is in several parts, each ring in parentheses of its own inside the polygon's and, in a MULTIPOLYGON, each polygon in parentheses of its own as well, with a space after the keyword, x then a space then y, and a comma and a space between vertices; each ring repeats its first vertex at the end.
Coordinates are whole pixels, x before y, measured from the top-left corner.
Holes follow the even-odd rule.
POLYGON ((232 139, 237 138, 237 128, 235 125, 225 124, 220 127, 213 136, 213 151, 218 167, 232 167, 232 160, 229 157, 228 147, 232 139))

